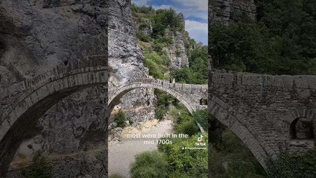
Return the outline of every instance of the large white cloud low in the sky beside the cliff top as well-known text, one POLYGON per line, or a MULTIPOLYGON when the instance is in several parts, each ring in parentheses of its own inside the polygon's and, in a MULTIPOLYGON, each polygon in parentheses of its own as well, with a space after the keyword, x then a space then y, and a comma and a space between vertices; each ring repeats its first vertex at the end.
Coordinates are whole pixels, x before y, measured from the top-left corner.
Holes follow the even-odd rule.
POLYGON ((191 38, 195 39, 198 42, 202 42, 204 45, 207 45, 208 42, 208 24, 201 23, 194 20, 185 21, 186 31, 189 32, 191 38))

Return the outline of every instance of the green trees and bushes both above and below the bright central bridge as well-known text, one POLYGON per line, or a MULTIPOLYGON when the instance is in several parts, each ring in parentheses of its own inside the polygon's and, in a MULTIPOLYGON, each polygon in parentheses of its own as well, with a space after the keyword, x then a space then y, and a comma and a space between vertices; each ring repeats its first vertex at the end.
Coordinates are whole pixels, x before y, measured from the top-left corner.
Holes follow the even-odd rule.
MULTIPOLYGON (((156 79, 177 83, 207 84, 207 46, 198 45, 185 32, 183 16, 174 9, 155 10, 152 7, 132 6, 136 18, 137 39, 144 49, 144 66, 156 79), (177 39, 174 39, 177 38, 177 39), (175 40, 183 40, 183 43, 175 40), (185 49, 185 52, 183 52, 185 49), (174 70, 170 66, 171 56, 188 57, 189 66, 174 70)), ((188 61, 187 61, 188 62, 188 61)), ((159 152, 145 152, 136 157, 131 166, 133 178, 207 178, 207 149, 182 150, 183 146, 195 147, 199 128, 197 117, 207 125, 207 117, 201 112, 194 116, 175 97, 155 89, 155 117, 172 118, 177 134, 188 134, 189 138, 168 138, 173 144, 159 146, 159 152)), ((205 126, 205 124, 203 124, 205 126)), ((207 126, 206 126, 207 128, 207 126)), ((207 140, 207 135, 205 136, 207 140)), ((204 140, 206 143, 207 141, 204 140)))

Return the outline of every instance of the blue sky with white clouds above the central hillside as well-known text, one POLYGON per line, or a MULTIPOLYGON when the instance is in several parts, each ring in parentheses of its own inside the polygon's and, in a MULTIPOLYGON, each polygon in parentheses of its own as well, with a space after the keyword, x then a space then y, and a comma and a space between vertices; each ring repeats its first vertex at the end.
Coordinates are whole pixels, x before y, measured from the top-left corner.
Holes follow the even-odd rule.
POLYGON ((182 12, 185 18, 185 28, 190 37, 207 45, 208 34, 208 0, 132 0, 138 6, 153 6, 155 9, 172 7, 182 12))

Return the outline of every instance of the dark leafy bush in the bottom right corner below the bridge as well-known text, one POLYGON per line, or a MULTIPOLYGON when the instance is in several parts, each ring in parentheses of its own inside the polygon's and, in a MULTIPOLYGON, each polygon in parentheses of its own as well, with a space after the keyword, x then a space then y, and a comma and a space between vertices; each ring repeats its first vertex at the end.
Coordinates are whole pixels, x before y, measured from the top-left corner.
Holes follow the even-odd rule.
POLYGON ((305 154, 281 153, 268 162, 268 175, 270 178, 315 178, 316 150, 305 154))

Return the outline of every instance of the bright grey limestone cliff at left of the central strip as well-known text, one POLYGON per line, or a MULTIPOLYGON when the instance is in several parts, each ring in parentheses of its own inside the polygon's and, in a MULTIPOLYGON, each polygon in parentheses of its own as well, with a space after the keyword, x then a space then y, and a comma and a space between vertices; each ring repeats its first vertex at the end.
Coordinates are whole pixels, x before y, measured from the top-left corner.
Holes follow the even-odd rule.
MULTIPOLYGON (((137 44, 136 25, 131 15, 131 0, 109 0, 109 88, 130 79, 148 78, 143 49, 137 44)), ((155 116, 153 89, 135 89, 125 94, 114 110, 122 108, 126 118, 151 120, 155 116), (139 108, 133 112, 133 108, 139 108), (139 117, 142 115, 142 117, 139 117)), ((110 123, 113 120, 110 119, 110 123)), ((110 125, 111 126, 111 125, 110 125)))

